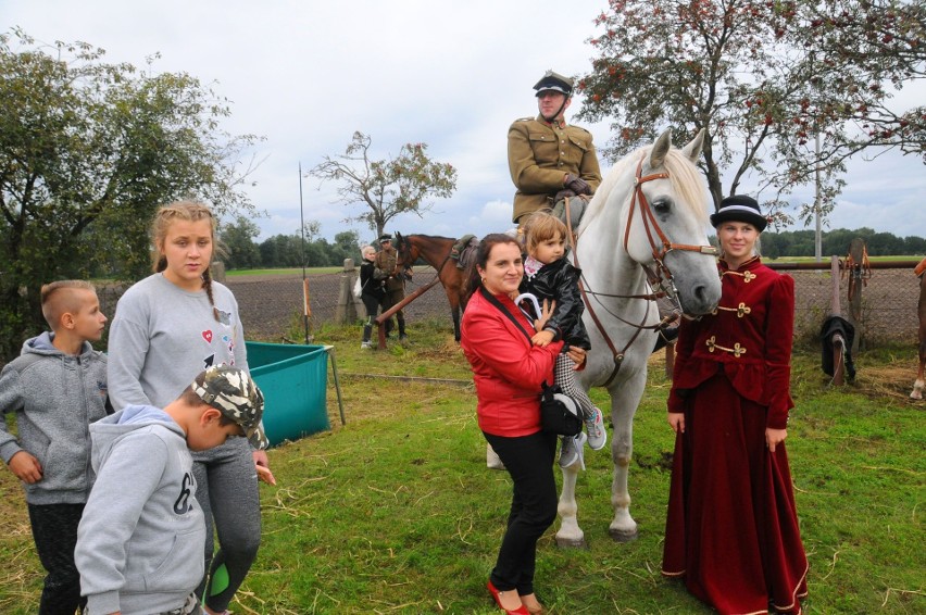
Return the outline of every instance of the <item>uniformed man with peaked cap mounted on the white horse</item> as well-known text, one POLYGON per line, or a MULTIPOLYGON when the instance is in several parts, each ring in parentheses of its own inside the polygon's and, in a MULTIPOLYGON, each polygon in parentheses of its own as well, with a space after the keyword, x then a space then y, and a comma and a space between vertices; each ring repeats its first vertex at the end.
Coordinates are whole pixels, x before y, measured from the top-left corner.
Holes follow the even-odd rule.
POLYGON ((585 201, 601 184, 591 134, 566 124, 573 87, 573 79, 547 71, 534 85, 537 117, 515 120, 508 129, 508 166, 517 188, 512 213, 515 224, 540 210, 555 210, 564 219, 564 201, 568 200, 572 225, 577 227, 585 201))

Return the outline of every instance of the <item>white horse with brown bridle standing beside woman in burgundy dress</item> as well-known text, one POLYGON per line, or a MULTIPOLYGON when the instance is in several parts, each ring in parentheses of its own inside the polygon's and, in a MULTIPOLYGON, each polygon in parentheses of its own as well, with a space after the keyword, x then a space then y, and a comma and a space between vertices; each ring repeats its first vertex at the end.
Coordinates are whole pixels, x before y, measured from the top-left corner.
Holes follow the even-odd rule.
MULTIPOLYGON (((703 130, 683 150, 673 149, 671 140, 666 130, 613 166, 588 204, 574 250, 592 346, 579 379, 586 389, 600 386, 611 393, 614 519, 609 532, 622 542, 637 537, 627 473, 634 414, 660 323, 654 299, 666 293, 689 317, 711 313, 721 299, 716 250, 705 234, 706 190, 694 166, 703 130)), ((561 547, 585 544, 576 516, 578 465, 563 468, 561 547)))

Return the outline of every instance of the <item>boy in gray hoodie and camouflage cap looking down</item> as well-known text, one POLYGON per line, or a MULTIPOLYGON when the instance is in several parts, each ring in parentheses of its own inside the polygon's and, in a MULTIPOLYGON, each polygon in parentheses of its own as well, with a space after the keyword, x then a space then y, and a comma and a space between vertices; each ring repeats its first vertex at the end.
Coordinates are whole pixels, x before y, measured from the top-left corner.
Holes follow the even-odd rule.
POLYGON ((263 405, 247 372, 214 365, 163 410, 128 405, 90 427, 97 481, 75 551, 87 615, 201 613, 205 522, 190 451, 263 438, 263 405))

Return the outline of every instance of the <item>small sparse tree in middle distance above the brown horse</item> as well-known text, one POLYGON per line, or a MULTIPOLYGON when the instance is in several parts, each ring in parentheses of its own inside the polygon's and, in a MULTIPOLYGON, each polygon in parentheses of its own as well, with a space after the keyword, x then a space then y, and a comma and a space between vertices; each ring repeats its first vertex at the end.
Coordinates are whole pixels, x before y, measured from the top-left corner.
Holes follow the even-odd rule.
POLYGON ((343 154, 326 155, 309 171, 322 181, 338 184, 337 202, 362 203, 370 210, 345 222, 363 222, 378 236, 397 215, 422 217, 434 208, 426 199, 449 198, 456 189, 456 170, 428 158, 426 143, 405 143, 398 156, 384 160, 371 158, 371 143, 367 135, 356 131, 343 154))

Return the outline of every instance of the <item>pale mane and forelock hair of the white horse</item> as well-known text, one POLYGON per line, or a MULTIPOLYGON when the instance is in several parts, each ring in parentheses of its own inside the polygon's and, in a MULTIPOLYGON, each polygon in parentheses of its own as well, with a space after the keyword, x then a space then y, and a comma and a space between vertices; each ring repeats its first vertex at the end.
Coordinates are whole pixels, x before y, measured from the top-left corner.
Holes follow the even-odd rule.
MULTIPOLYGON (((611 172, 602 179, 601 185, 595 192, 596 197, 589 204, 589 210, 585 216, 588 219, 588 224, 604 210, 608 194, 614 189, 615 184, 625 176, 633 177, 637 170, 637 162, 642 156, 649 158, 652 148, 653 146, 649 145, 636 149, 614 163, 611 172)), ((670 148, 665 155, 664 164, 665 170, 668 172, 668 180, 672 183, 672 189, 686 203, 696 218, 706 224, 708 209, 705 206, 705 192, 698 167, 691 164, 681 150, 675 148, 670 148)))

